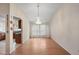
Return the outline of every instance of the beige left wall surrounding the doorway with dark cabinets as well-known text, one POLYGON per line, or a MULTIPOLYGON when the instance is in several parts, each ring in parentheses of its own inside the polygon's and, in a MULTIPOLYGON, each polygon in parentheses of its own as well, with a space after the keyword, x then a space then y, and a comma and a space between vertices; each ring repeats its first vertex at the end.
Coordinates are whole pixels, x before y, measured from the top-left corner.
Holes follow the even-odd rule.
MULTIPOLYGON (((16 16, 16 17, 22 19, 22 21, 23 21, 22 42, 24 43, 26 40, 29 39, 29 21, 26 18, 25 13, 19 7, 17 7, 15 4, 10 4, 10 15, 11 15, 10 20, 12 20, 12 21, 13 21, 12 16, 16 16)), ((11 31, 11 33, 13 33, 13 31, 11 31)), ((10 52, 12 52, 14 50, 12 34, 10 36, 11 36, 11 39, 10 39, 10 52)))

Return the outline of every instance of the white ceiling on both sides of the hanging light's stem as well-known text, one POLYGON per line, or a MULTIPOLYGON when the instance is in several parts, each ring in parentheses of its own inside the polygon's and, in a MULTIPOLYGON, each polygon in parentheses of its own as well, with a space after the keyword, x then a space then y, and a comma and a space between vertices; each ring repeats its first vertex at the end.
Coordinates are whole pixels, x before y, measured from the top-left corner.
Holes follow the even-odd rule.
MULTIPOLYGON (((21 8, 25 13, 26 17, 32 21, 36 21, 37 17, 37 3, 19 3, 16 4, 19 8, 21 8)), ((43 23, 49 22, 52 19, 55 12, 61 6, 61 4, 56 3, 40 3, 39 4, 39 17, 43 23)))

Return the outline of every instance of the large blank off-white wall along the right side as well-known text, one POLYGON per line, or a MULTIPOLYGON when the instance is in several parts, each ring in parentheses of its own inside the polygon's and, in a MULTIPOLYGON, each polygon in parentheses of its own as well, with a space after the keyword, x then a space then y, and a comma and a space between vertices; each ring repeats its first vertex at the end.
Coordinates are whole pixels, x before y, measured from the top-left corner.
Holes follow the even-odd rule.
POLYGON ((79 54, 79 4, 64 4, 50 23, 51 37, 70 54, 79 54))

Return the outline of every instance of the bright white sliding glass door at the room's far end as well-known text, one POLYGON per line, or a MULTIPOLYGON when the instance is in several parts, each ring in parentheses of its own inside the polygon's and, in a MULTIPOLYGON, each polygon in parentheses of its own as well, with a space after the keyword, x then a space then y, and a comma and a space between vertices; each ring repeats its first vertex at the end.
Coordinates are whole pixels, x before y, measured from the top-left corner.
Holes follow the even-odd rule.
POLYGON ((48 24, 32 24, 31 37, 49 37, 48 24))

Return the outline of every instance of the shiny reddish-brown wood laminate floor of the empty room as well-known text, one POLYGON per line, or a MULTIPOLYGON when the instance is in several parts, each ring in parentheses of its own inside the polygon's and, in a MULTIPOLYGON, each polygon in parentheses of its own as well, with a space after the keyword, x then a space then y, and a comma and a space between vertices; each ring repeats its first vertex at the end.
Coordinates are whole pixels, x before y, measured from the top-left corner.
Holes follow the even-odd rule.
POLYGON ((52 39, 31 38, 11 55, 69 55, 69 53, 52 39))

